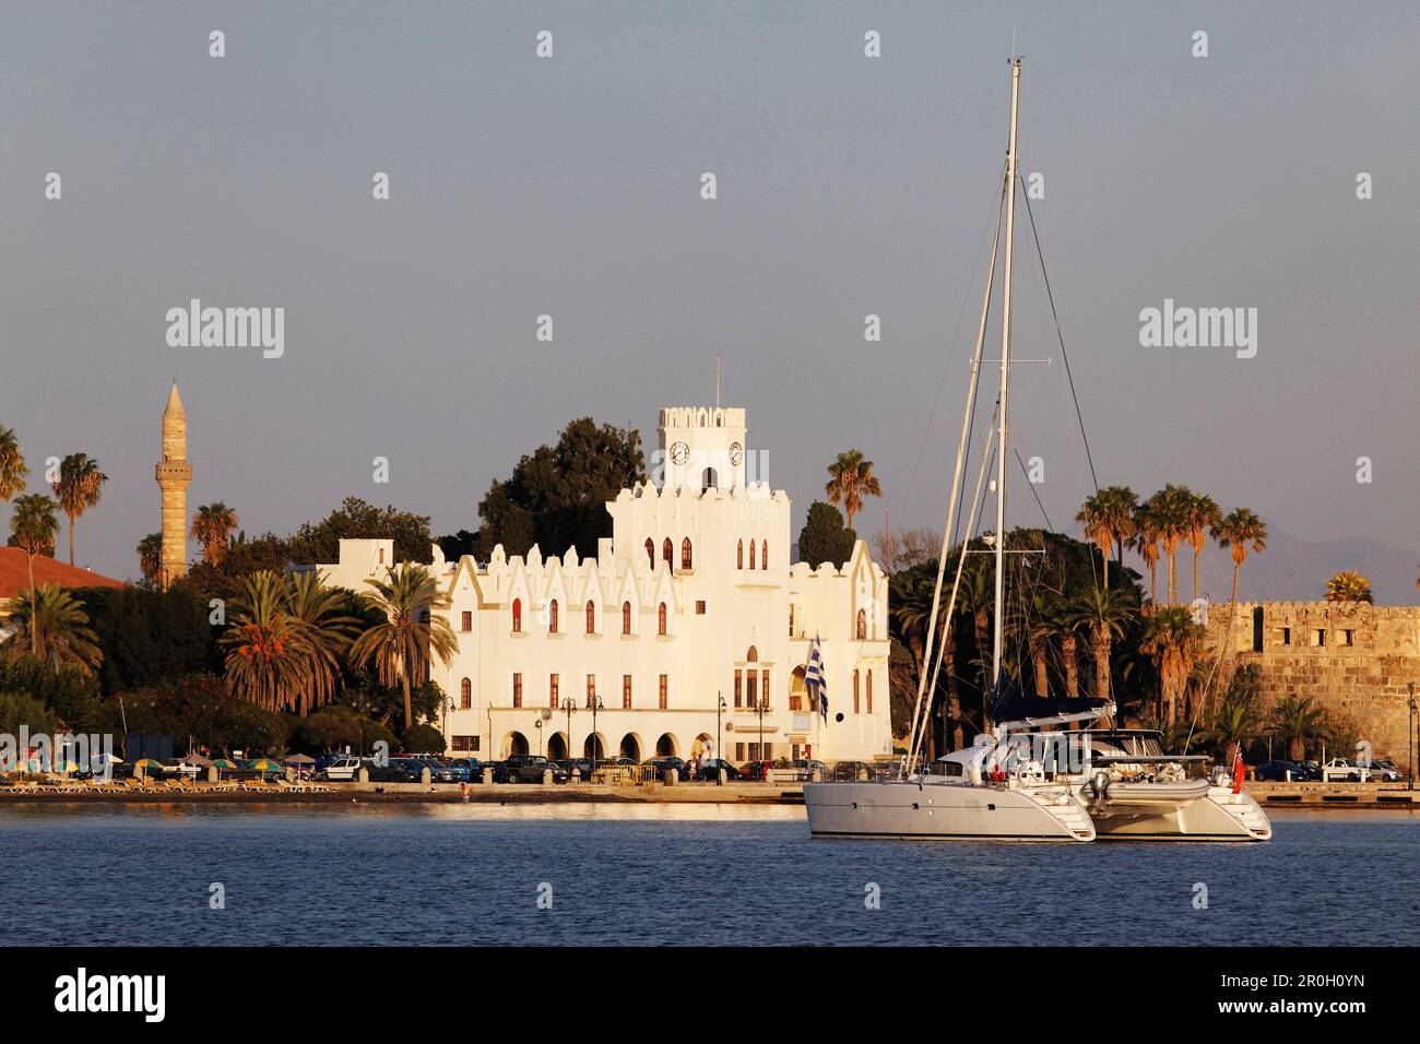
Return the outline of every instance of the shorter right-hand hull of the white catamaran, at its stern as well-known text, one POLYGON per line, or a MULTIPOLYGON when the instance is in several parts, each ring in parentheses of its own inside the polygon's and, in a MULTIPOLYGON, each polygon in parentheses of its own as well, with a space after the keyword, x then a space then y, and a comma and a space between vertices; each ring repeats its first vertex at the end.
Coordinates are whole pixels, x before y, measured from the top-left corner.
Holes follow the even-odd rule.
POLYGON ((1197 797, 1169 801, 1160 794, 1150 795, 1147 788, 1153 785, 1157 784, 1140 784, 1145 793, 1130 795, 1115 784, 1103 801, 1088 801, 1099 839, 1268 841, 1272 837, 1267 812, 1248 794, 1208 787, 1197 797))

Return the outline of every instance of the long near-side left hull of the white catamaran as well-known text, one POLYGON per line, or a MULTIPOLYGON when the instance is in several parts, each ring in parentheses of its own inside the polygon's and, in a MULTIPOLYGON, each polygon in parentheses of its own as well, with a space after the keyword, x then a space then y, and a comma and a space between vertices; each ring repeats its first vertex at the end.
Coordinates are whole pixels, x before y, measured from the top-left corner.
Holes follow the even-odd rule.
POLYGON ((1095 825, 1064 787, 902 783, 809 783, 814 837, 994 841, 1093 841, 1095 825))

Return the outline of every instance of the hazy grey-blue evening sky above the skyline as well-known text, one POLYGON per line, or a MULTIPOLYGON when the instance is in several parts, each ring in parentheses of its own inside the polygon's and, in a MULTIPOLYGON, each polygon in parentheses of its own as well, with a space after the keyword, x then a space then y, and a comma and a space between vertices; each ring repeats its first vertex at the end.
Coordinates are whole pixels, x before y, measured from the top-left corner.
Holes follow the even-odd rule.
MULTIPOLYGON (((7 3, 0 425, 98 459, 77 561, 133 577, 173 378, 189 513, 287 533, 359 496, 442 534, 572 418, 655 446, 720 354, 795 527, 848 447, 885 493, 861 533, 940 527, 1012 31, 1100 484, 1420 561, 1413 3, 7 3), (283 355, 169 345, 190 298, 284 308, 283 355), (1166 300, 1255 308, 1255 355, 1142 347, 1166 300)), ((1051 365, 1015 369, 1012 443, 1071 528, 1092 486, 1021 222, 1012 352, 1051 365)))

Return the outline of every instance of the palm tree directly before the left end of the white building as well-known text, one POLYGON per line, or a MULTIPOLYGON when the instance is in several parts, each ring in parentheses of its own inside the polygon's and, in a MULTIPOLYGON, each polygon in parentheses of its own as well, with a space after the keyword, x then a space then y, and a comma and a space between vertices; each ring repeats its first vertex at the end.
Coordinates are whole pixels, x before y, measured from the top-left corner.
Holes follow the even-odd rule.
POLYGON ((398 570, 386 568, 388 580, 366 580, 375 588, 366 595, 368 602, 383 611, 385 622, 376 624, 355 639, 351 646, 351 663, 364 666, 373 662, 383 685, 392 685, 398 678, 405 687, 405 730, 413 724, 413 700, 410 675, 423 675, 433 659, 453 658, 459 649, 459 638, 449 621, 436 616, 437 609, 449 607, 449 598, 440 594, 439 585, 429 570, 415 562, 405 562, 398 570))

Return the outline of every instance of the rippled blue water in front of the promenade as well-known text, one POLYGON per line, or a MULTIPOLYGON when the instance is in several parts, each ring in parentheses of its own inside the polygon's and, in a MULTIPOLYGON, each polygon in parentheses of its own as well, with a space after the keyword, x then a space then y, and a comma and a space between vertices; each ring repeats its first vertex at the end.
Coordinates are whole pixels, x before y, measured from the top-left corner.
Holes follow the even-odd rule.
POLYGON ((801 808, 11 805, 0 916, 41 945, 1420 945, 1420 817, 1274 822, 1021 845, 814 841, 801 808))

